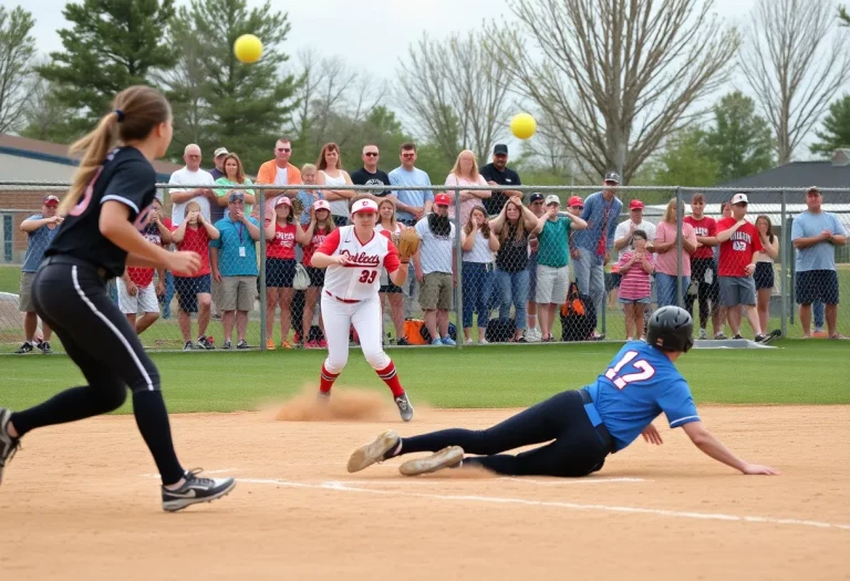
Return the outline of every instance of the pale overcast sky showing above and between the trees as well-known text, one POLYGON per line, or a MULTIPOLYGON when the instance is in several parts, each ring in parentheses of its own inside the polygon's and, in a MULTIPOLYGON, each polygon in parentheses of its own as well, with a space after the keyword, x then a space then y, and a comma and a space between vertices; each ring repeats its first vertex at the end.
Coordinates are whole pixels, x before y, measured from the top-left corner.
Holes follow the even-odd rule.
MULTIPOLYGON (((39 50, 45 54, 62 50, 56 31, 68 25, 62 17, 65 0, 0 0, 10 9, 21 3, 29 9, 38 7, 33 33, 39 50)), ((262 6, 260 0, 248 3, 262 6)), ((714 9, 729 23, 742 24, 755 4, 756 0, 715 0, 714 9)), ((352 66, 384 79, 392 75, 407 44, 423 32, 439 38, 479 28, 485 19, 511 17, 508 0, 272 0, 272 6, 289 13, 292 30, 283 48, 290 55, 313 48, 323 55, 340 55, 352 66)), ((739 77, 723 93, 734 89, 747 92, 739 77)), ((796 157, 807 154, 807 148, 800 147, 796 157)))

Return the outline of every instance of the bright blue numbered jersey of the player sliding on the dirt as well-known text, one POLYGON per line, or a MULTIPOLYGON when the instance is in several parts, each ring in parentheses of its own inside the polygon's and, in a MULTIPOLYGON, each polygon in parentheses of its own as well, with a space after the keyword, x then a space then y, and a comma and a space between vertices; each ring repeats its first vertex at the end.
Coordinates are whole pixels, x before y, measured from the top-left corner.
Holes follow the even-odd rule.
POLYGON ((588 391, 618 450, 662 412, 670 427, 699 421, 685 378, 661 350, 643 341, 626 343, 588 391))

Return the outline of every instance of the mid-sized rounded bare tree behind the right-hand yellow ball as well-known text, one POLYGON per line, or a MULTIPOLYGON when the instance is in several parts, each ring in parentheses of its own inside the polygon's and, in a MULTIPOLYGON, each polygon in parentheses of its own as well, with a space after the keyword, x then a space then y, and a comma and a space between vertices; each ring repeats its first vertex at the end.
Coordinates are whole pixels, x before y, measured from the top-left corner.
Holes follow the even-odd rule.
POLYGON ((460 149, 486 159, 511 110, 510 75, 484 48, 480 34, 447 40, 426 35, 410 45, 397 72, 401 106, 446 159, 460 149))

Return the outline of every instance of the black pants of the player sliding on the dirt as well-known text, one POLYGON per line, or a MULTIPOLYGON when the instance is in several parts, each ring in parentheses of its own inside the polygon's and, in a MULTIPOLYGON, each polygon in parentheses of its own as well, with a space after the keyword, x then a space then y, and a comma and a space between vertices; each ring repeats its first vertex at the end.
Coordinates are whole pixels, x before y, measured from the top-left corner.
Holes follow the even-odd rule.
POLYGON ((480 455, 464 458, 464 467, 481 466, 508 476, 587 476, 602 468, 613 452, 611 436, 593 427, 578 391, 561 392, 484 430, 454 428, 402 438, 401 453, 438 452, 447 446, 480 455), (545 442, 549 444, 516 456, 501 454, 545 442))

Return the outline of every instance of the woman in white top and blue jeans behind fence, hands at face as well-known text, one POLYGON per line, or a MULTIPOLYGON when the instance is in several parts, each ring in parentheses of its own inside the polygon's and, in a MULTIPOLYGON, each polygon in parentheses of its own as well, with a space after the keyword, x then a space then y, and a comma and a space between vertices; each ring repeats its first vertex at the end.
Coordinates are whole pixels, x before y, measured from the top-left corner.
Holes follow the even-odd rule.
POLYGON ((473 344, 473 312, 478 317, 478 343, 487 343, 487 323, 490 320, 490 295, 495 263, 493 255, 499 250, 499 239, 490 229, 484 207, 476 206, 460 230, 460 247, 464 250, 462 290, 464 298, 464 336, 466 344, 473 344))

